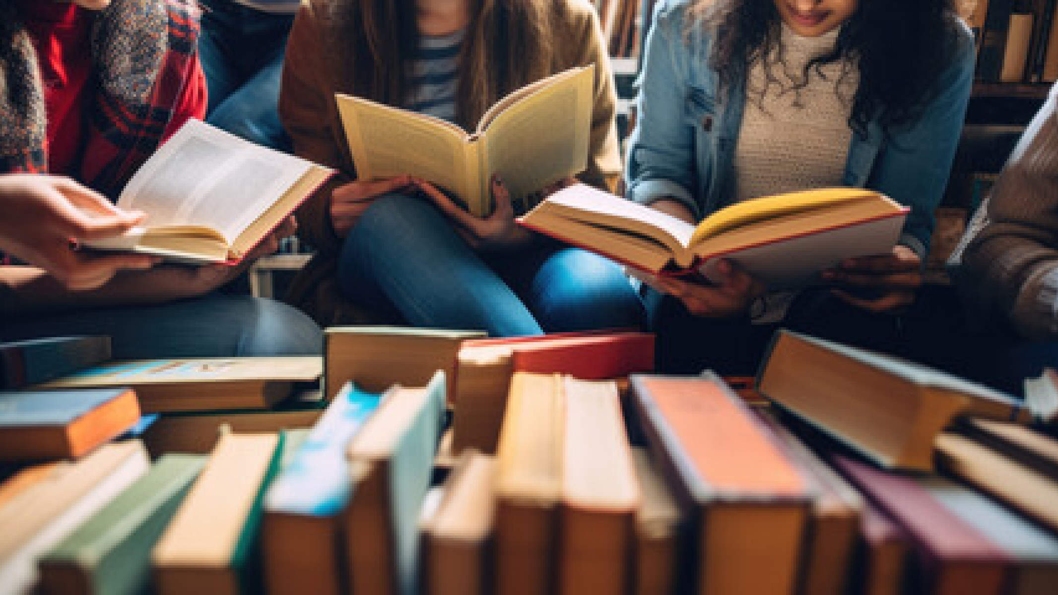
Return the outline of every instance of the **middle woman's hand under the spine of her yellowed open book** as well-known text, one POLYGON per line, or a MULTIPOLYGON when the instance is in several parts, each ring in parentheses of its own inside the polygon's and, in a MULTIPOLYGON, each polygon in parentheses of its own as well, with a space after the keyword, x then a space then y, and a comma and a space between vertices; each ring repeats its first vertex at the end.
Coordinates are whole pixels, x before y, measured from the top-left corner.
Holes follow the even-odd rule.
POLYGON ((492 215, 485 218, 467 212, 428 182, 416 180, 415 184, 430 197, 441 212, 455 222, 456 229, 474 249, 484 252, 510 249, 532 241, 532 233, 514 221, 511 196, 507 191, 507 186, 504 186, 496 175, 492 176, 492 202, 495 208, 492 215))

